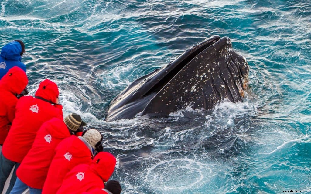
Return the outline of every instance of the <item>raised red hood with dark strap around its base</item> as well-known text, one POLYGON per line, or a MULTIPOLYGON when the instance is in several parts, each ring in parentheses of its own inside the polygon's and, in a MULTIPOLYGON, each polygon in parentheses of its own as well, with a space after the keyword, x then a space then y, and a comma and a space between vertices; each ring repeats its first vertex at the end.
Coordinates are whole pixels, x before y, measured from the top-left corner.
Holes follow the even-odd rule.
POLYGON ((35 96, 44 98, 45 100, 51 101, 53 103, 56 103, 56 98, 58 97, 58 87, 56 83, 50 81, 49 79, 43 80, 39 88, 35 94, 35 96))

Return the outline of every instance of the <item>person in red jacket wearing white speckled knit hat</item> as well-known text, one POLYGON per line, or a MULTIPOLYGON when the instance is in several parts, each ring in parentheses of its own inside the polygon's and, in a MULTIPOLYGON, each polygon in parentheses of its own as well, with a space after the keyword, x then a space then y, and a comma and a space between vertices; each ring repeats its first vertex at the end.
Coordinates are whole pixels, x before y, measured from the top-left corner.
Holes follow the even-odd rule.
POLYGON ((55 149, 42 194, 55 194, 64 176, 78 164, 89 164, 102 151, 103 136, 96 129, 83 131, 82 136, 63 139, 55 149))

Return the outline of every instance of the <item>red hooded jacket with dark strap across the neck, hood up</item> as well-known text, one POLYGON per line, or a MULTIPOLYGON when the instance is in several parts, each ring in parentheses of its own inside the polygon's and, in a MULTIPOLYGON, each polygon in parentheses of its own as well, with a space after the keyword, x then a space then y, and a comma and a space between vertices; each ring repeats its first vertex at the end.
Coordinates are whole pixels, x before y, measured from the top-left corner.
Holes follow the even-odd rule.
MULTIPOLYGON (((36 97, 55 103, 58 97, 57 85, 45 79, 40 83, 36 97)), ((15 119, 2 147, 5 158, 21 163, 30 150, 41 125, 53 117, 63 119, 62 106, 51 102, 31 96, 19 99, 16 104, 15 119)))

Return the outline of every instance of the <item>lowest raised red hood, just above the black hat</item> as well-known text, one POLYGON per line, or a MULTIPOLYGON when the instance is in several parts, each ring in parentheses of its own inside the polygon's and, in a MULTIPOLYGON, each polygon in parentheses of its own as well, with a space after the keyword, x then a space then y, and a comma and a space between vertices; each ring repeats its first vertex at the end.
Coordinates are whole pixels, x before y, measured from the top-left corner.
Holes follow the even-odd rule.
POLYGON ((108 152, 101 151, 93 159, 90 169, 98 174, 104 182, 107 182, 114 172, 115 165, 115 157, 108 152))

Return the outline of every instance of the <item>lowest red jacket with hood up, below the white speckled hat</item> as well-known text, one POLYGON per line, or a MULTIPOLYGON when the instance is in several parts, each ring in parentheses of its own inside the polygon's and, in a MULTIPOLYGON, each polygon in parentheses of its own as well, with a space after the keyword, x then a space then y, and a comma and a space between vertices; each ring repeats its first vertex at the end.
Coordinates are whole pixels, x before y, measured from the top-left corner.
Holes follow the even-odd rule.
POLYGON ((66 174, 56 194, 81 194, 104 188, 114 172, 116 159, 108 152, 98 153, 91 164, 81 164, 66 174))

